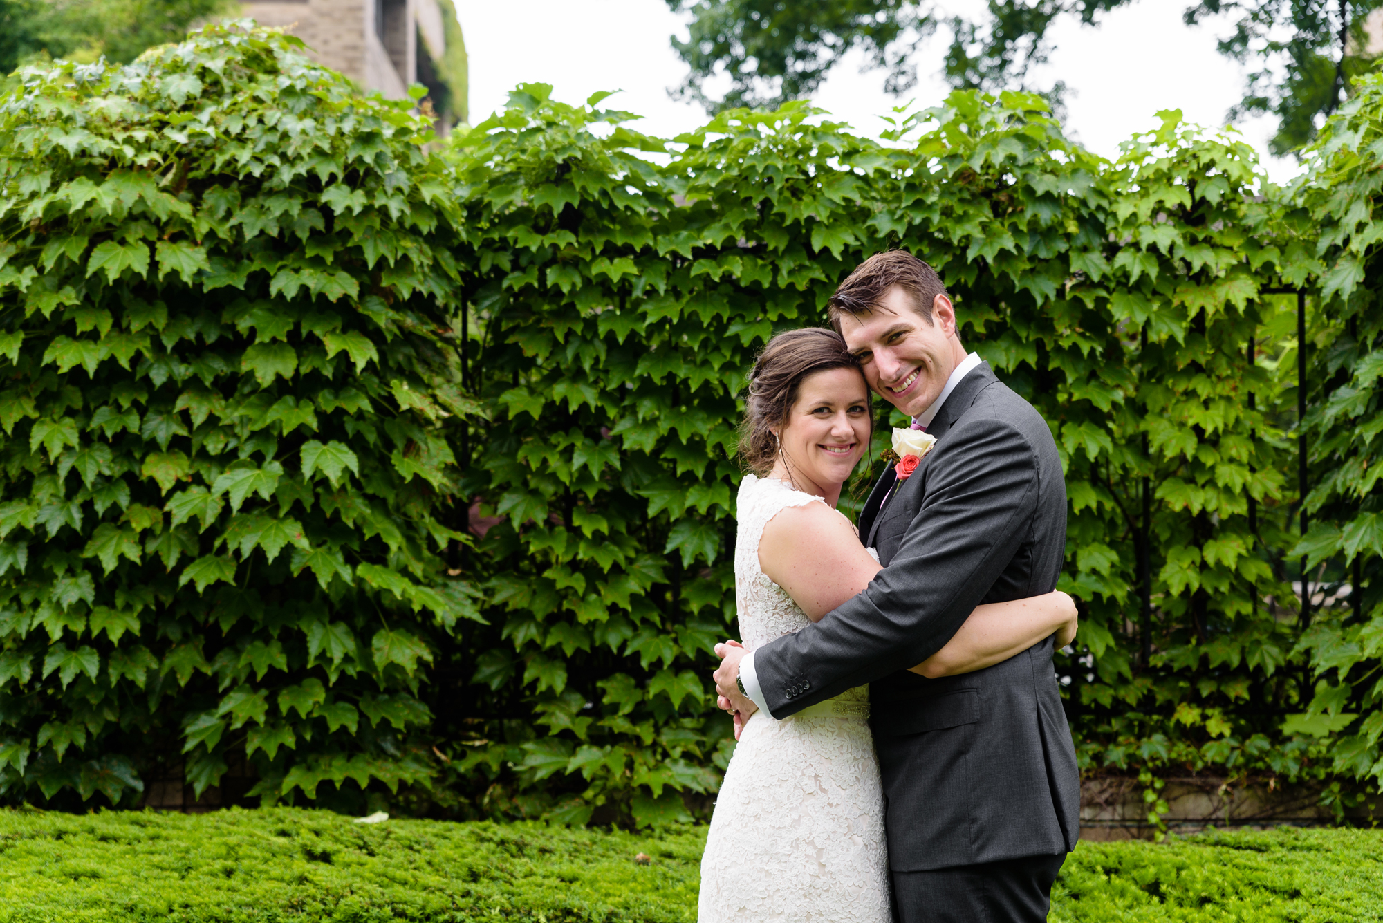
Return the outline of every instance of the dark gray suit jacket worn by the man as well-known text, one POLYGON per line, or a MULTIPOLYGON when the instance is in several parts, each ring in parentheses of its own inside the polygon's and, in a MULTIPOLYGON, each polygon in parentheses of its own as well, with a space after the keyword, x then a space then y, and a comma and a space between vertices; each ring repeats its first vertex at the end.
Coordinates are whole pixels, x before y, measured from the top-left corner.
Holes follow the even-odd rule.
POLYGON ((898 486, 889 468, 860 517, 884 569, 816 625, 754 654, 779 719, 871 684, 889 865, 975 865, 1076 847, 1080 775, 1052 670, 1052 638, 1004 663, 928 680, 907 667, 981 602, 1057 586, 1066 486, 1051 430, 987 363, 927 428, 936 446, 898 486))

